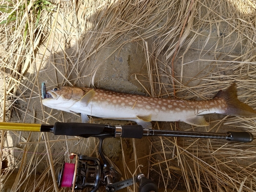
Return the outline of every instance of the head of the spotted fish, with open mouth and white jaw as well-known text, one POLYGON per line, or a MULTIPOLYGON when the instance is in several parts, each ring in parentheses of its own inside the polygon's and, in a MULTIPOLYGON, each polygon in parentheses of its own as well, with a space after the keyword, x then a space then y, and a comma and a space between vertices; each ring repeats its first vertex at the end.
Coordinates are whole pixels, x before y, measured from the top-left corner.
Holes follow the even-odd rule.
POLYGON ((47 90, 42 104, 49 108, 70 112, 69 108, 79 101, 84 91, 76 87, 54 87, 47 90))

